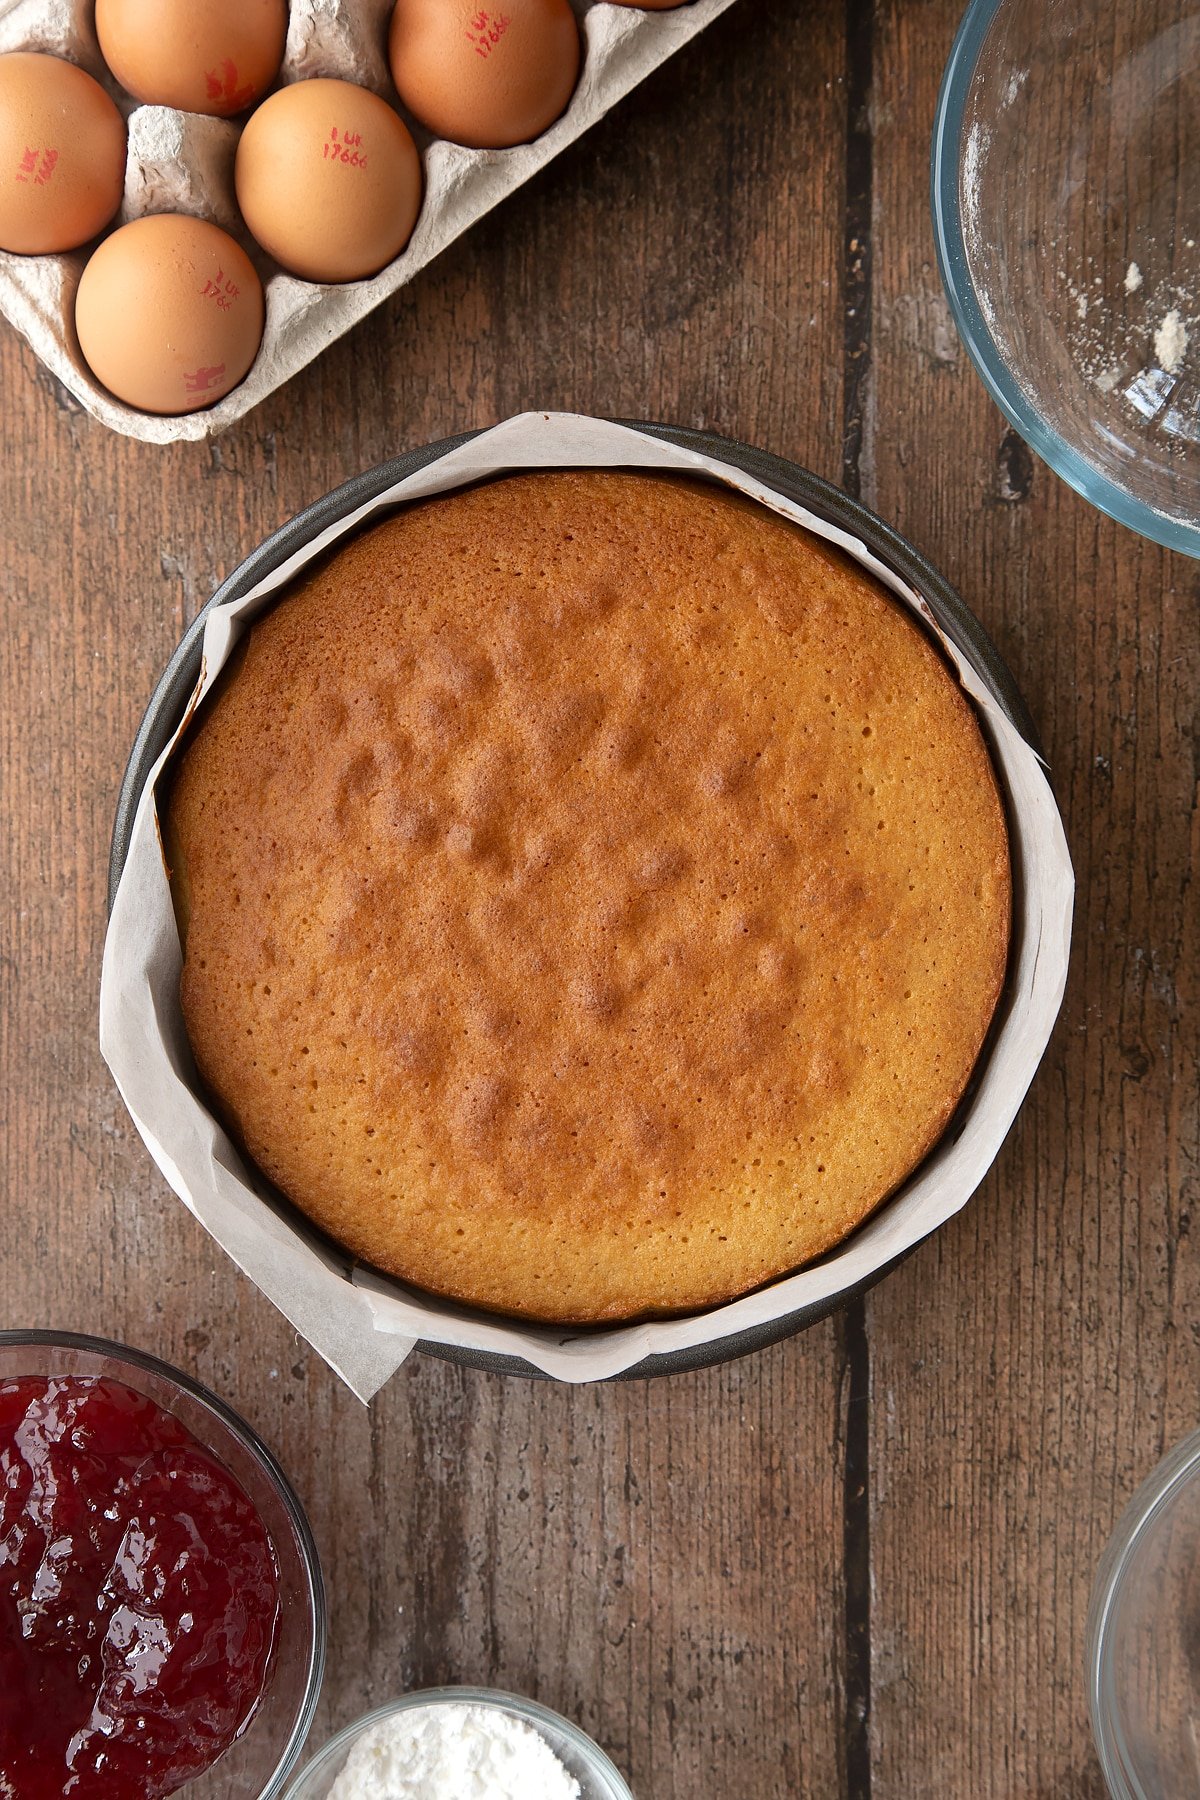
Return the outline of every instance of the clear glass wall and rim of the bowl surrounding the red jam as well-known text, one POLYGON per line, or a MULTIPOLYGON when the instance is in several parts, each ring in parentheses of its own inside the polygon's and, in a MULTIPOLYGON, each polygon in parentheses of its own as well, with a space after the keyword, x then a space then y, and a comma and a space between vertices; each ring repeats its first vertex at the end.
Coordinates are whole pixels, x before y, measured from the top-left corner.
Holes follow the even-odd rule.
POLYGON ((317 1544, 288 1478, 250 1426, 200 1382, 157 1357, 74 1332, 0 1332, 0 1381, 101 1375, 178 1418, 234 1476, 263 1519, 279 1564, 279 1642, 250 1724, 176 1800, 277 1800, 317 1710, 326 1667, 326 1589, 317 1544))

